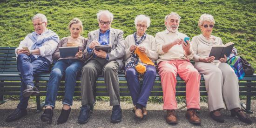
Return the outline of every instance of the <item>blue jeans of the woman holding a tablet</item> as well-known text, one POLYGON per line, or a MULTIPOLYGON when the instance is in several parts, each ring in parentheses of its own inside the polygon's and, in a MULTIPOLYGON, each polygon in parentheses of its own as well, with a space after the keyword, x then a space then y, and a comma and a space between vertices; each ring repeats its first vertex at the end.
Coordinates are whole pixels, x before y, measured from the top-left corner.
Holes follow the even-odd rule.
POLYGON ((76 77, 81 74, 83 61, 62 59, 54 64, 47 86, 45 106, 54 108, 62 77, 65 75, 65 95, 62 104, 71 106, 73 103, 76 77))

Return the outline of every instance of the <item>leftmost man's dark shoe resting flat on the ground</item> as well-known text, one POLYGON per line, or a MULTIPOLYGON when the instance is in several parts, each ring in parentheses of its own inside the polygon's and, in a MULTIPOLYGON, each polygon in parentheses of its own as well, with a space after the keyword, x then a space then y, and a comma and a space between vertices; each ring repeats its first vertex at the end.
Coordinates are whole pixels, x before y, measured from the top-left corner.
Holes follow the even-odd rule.
POLYGON ((11 121, 16 121, 19 120, 20 118, 24 117, 27 115, 27 110, 21 110, 20 108, 16 108, 13 113, 11 113, 7 118, 6 122, 11 122, 11 121))

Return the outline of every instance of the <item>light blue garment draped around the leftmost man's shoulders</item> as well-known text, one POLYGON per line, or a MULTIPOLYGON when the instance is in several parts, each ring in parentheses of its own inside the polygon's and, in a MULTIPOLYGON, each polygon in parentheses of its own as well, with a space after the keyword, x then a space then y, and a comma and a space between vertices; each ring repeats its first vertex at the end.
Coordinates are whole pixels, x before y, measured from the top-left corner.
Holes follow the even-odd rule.
POLYGON ((52 30, 46 30, 42 37, 39 39, 36 36, 36 32, 28 34, 27 36, 34 42, 33 45, 30 47, 31 50, 41 47, 48 40, 54 40, 57 43, 59 43, 60 41, 59 36, 55 34, 52 30))

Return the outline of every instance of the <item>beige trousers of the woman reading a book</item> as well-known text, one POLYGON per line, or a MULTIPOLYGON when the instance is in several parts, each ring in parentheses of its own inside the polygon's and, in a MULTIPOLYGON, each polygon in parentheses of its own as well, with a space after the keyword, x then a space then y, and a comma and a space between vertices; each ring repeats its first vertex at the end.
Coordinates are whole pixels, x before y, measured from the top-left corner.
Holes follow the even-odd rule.
POLYGON ((203 74, 210 112, 224 108, 223 99, 228 110, 240 108, 238 78, 229 64, 195 62, 195 68, 203 74))

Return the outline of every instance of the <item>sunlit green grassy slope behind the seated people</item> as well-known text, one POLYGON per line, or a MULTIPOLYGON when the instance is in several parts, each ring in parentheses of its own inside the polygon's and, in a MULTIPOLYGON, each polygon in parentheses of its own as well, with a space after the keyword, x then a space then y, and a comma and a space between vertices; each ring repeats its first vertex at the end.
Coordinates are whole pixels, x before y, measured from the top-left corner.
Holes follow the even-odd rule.
POLYGON ((151 18, 147 33, 155 36, 163 31, 164 17, 170 12, 181 15, 179 31, 189 37, 201 34, 197 22, 202 13, 216 20, 213 35, 224 43, 233 41, 239 55, 256 68, 256 2, 255 0, 0 0, 0 47, 17 47, 33 32, 31 18, 43 13, 48 28, 60 38, 69 35, 67 25, 74 17, 84 25, 84 37, 97 29, 96 13, 108 9, 114 14, 112 27, 124 31, 124 37, 135 32, 138 14, 151 18))

